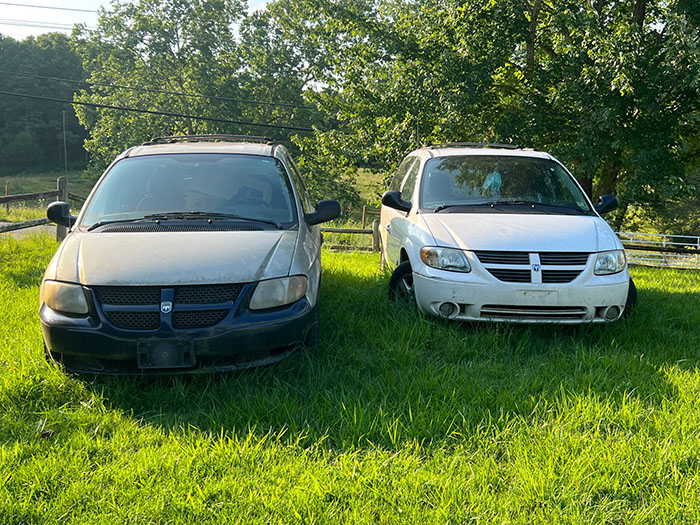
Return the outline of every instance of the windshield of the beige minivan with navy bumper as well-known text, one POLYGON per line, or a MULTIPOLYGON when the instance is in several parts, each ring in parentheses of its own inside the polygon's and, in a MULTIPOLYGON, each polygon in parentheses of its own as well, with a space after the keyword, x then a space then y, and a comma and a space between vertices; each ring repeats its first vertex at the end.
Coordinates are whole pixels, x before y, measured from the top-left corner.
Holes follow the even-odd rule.
POLYGON ((287 172, 275 158, 242 154, 145 155, 118 161, 90 199, 82 226, 149 215, 240 216, 288 227, 296 206, 287 172))

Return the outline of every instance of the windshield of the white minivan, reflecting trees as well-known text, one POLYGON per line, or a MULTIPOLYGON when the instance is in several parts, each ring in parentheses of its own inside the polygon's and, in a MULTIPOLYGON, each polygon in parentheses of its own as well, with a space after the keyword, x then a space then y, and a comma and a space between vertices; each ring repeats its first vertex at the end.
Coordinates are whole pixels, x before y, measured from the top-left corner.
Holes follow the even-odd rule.
POLYGON ((549 159, 473 155, 426 162, 422 208, 494 201, 528 201, 591 211, 573 178, 549 159))

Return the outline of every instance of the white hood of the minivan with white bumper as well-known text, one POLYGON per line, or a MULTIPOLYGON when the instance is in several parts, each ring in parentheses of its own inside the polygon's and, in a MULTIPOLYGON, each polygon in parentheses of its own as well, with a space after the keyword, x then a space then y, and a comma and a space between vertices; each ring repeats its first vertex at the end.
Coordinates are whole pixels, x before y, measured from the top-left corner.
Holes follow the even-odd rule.
POLYGON ((438 246, 463 250, 595 252, 622 248, 600 217, 580 215, 426 213, 438 246))

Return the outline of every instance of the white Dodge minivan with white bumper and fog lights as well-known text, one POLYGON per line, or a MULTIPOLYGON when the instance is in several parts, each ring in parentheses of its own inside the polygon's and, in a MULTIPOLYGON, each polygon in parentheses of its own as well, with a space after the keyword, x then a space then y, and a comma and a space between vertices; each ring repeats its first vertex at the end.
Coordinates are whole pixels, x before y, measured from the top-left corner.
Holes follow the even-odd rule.
POLYGON ((382 197, 392 299, 448 319, 615 321, 636 304, 625 251, 571 173, 547 153, 450 143, 410 153, 382 197))

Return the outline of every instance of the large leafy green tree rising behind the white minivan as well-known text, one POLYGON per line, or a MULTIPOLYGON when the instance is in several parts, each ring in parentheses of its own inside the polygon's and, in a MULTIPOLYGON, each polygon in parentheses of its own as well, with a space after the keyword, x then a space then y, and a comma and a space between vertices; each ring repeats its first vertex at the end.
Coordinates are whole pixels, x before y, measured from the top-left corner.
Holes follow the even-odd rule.
POLYGON ((301 0, 285 19, 328 61, 313 99, 342 155, 391 169, 455 140, 552 151, 591 195, 662 209, 697 136, 697 2, 301 0))

